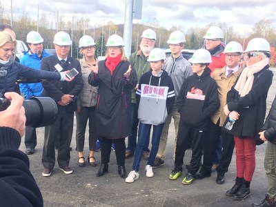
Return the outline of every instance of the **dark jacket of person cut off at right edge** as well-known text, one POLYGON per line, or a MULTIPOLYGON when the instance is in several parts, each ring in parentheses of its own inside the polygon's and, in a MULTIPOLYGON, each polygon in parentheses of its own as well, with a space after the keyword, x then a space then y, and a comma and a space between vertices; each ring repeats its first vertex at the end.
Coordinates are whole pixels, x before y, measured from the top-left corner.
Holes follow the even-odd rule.
POLYGON ((264 137, 272 144, 276 144, 276 97, 273 100, 268 117, 266 117, 266 122, 261 131, 263 130, 266 130, 264 137))

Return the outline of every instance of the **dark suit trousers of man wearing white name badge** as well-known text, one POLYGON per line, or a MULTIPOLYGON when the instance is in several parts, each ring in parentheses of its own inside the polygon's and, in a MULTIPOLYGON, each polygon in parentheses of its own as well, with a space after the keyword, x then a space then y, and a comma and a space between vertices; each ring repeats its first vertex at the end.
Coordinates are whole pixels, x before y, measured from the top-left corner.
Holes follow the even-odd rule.
POLYGON ((57 120, 51 126, 45 127, 44 145, 42 152, 42 164, 44 168, 55 166, 55 141, 59 137, 59 149, 57 151, 57 163, 59 167, 69 165, 70 144, 72 139, 74 112, 68 112, 66 108, 58 106, 57 120), (59 135, 59 136, 58 136, 59 135))

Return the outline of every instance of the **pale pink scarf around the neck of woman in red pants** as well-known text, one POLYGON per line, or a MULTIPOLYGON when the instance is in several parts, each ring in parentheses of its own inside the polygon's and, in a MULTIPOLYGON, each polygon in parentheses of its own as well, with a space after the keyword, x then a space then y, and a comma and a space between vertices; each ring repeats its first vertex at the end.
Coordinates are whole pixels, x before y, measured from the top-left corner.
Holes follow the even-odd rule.
POLYGON ((254 81, 254 74, 262 70, 266 65, 268 65, 269 60, 268 58, 263 59, 257 63, 254 63, 252 66, 248 66, 242 70, 242 74, 239 76, 239 80, 235 86, 235 90, 239 92, 241 97, 250 92, 253 81, 254 81))

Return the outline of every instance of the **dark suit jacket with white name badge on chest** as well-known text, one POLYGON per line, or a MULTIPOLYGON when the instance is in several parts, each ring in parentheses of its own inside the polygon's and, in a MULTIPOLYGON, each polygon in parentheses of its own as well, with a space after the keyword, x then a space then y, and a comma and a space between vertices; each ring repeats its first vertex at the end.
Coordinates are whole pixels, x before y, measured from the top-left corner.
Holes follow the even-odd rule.
POLYGON ((61 63, 57 58, 57 55, 51 55, 44 57, 41 60, 41 70, 57 71, 55 65, 57 63, 63 68, 63 71, 76 68, 79 74, 72 81, 43 81, 42 86, 44 88, 42 95, 52 97, 56 102, 61 99, 63 95, 74 95, 73 101, 71 101, 66 110, 68 112, 74 112, 77 110, 77 95, 83 88, 83 80, 81 75, 81 65, 77 59, 68 57, 65 63, 61 63))

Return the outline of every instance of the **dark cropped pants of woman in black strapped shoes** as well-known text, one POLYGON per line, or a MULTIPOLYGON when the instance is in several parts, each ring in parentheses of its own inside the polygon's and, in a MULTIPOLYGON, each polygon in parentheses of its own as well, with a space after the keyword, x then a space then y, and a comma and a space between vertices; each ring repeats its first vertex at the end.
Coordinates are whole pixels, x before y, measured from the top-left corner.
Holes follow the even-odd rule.
POLYGON ((81 106, 80 112, 76 112, 77 130, 76 130, 76 150, 83 152, 84 138, 86 134, 86 125, 89 119, 89 150, 95 151, 97 135, 93 132, 95 124, 95 107, 81 106))

